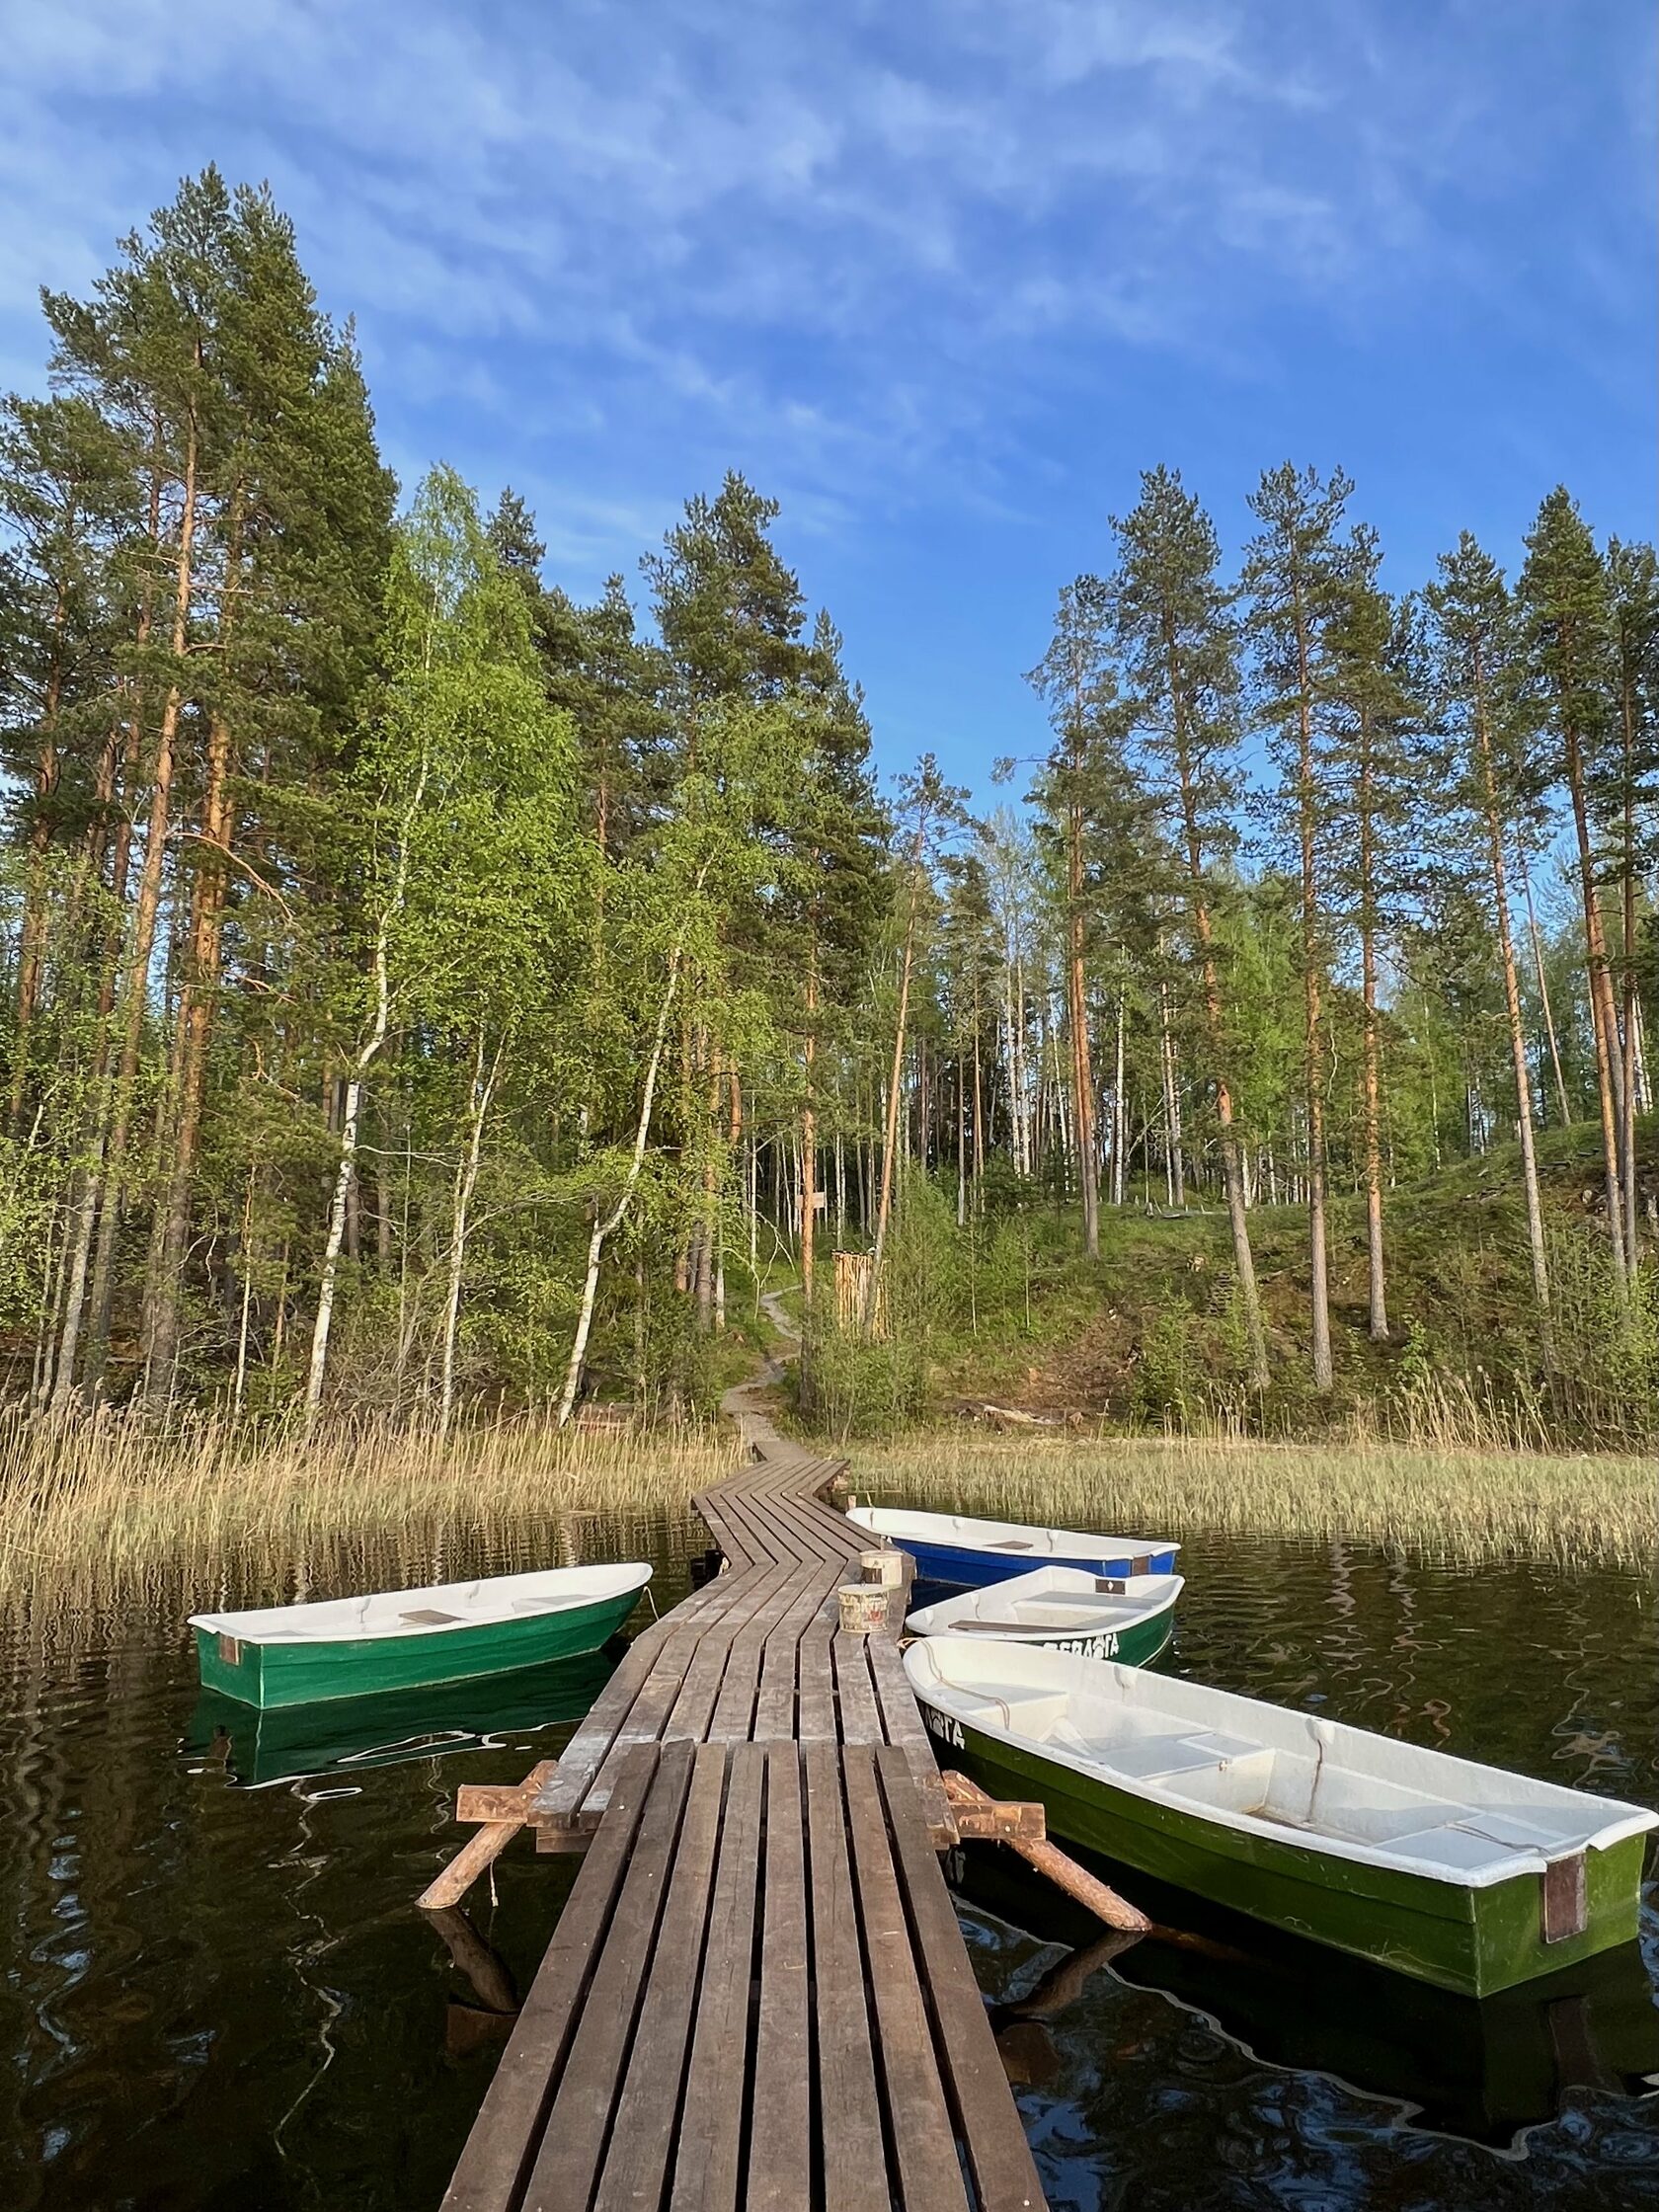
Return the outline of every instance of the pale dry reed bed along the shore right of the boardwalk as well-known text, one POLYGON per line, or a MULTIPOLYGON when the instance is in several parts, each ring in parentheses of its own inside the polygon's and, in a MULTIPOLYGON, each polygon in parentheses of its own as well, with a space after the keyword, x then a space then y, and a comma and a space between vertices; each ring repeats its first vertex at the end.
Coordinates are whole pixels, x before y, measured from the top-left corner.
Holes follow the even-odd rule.
POLYGON ((1073 1528, 1347 1537, 1460 1564, 1659 1564, 1650 1455, 936 1433, 856 1447, 849 1480, 889 1502, 1073 1528))

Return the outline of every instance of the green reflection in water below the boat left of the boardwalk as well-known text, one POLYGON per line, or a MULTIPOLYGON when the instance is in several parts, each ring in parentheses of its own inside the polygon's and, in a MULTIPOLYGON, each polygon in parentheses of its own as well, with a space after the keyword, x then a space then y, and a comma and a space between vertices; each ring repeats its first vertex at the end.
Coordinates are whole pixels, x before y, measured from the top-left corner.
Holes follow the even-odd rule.
POLYGON ((319 1705, 243 1705, 204 1690, 179 1745, 188 1759, 223 1761, 243 1790, 307 1774, 354 1774, 476 1752, 498 1736, 580 1721, 611 1679, 622 1641, 580 1659, 553 1659, 478 1681, 338 1697, 319 1705))

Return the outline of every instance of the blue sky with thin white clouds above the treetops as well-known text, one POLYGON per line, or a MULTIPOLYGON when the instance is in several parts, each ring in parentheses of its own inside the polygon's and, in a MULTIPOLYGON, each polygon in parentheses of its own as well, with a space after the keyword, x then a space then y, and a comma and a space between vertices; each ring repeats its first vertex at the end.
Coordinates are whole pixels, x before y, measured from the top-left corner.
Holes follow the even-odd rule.
POLYGON ((356 314, 387 458, 591 593, 745 469, 880 759, 984 783, 1166 460, 1340 462, 1405 588, 1566 480, 1655 526, 1650 0, 0 4, 0 378, 208 159, 356 314))

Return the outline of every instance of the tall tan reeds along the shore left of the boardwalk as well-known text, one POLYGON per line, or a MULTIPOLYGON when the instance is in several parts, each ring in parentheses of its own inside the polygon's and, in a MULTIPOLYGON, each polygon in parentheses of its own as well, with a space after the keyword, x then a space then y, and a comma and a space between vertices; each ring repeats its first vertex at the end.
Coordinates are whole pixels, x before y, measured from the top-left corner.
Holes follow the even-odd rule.
MULTIPOLYGON (((352 1586, 354 1562, 425 1564, 489 1537, 553 1564, 580 1515, 681 1513, 732 1462, 717 1425, 557 1431, 522 1422, 440 1442, 367 1427, 303 1444, 215 1422, 0 1422, 0 1599, 100 1604, 153 1575, 217 1599, 352 1586)), ((427 1573, 414 1579, 427 1579, 427 1573)))

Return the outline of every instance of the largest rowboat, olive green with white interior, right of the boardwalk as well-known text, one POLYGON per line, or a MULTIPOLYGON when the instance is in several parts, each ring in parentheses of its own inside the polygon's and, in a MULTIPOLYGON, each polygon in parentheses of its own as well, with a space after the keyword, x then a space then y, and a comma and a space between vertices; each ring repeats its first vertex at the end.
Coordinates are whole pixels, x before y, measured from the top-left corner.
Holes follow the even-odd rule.
POLYGON ((1637 1933, 1641 1805, 1031 1644, 927 1637, 905 1670, 936 1741, 1055 1836, 1440 1989, 1637 1933))

